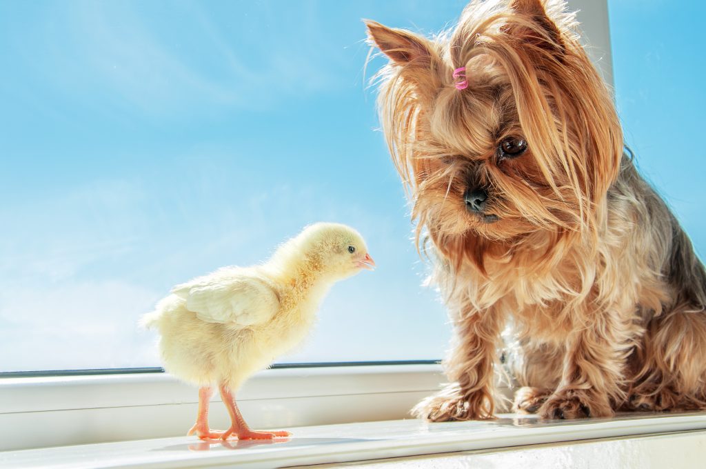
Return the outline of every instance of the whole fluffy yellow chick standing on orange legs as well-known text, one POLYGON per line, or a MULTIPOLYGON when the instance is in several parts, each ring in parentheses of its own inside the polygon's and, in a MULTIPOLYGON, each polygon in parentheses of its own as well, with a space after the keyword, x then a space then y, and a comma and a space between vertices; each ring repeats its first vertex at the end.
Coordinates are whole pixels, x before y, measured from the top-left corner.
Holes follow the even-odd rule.
POLYGON ((275 357, 301 343, 333 283, 372 270, 375 262, 356 230, 316 223, 282 244, 258 266, 225 267, 172 288, 143 316, 161 334, 164 369, 199 386, 198 416, 189 435, 202 439, 272 439, 288 432, 256 432, 238 410, 235 391, 275 357), (208 426, 208 403, 217 385, 232 425, 208 426))

